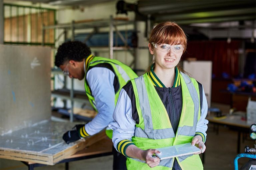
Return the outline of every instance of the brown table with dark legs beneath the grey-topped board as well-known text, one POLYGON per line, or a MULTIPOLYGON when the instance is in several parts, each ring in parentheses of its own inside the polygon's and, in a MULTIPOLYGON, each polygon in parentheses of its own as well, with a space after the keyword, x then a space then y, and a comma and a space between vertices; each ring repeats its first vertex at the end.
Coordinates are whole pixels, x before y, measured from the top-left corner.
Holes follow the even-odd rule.
MULTIPOLYGON (((113 147, 113 143, 111 139, 106 137, 90 145, 89 147, 86 147, 83 150, 78 151, 74 155, 71 155, 56 164, 65 163, 65 169, 68 170, 69 162, 112 155, 112 147, 113 147)), ((33 170, 35 167, 47 166, 46 164, 39 164, 39 163, 25 162, 25 161, 22 161, 22 162, 28 166, 29 170, 33 170)))

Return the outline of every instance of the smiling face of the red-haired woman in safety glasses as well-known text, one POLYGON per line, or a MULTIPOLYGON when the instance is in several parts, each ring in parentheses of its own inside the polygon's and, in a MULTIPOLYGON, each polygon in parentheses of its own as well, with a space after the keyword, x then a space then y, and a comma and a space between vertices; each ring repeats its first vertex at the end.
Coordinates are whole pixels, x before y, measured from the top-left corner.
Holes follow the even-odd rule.
MULTIPOLYGON (((166 46, 163 46, 163 44, 158 45, 157 48, 155 48, 156 46, 152 47, 150 44, 148 44, 148 47, 149 47, 150 54, 155 56, 155 68, 160 67, 162 69, 173 69, 178 65, 180 58, 183 54, 183 50, 178 53, 174 52, 175 48, 177 48, 176 45, 171 47, 169 46, 170 49, 167 52, 163 52, 164 50, 162 49, 166 48, 166 46)), ((183 48, 182 45, 178 47, 183 48)))

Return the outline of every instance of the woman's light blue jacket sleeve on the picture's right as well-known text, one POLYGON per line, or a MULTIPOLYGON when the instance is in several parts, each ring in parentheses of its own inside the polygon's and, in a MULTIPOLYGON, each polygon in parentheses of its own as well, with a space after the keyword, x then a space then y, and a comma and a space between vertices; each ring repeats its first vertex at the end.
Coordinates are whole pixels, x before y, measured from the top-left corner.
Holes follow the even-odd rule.
POLYGON ((202 110, 201 110, 201 117, 196 125, 196 132, 203 133, 205 136, 205 140, 206 140, 206 130, 208 127, 207 126, 208 120, 206 120, 205 117, 207 116, 207 112, 208 112, 208 104, 207 104, 206 96, 204 93, 204 88, 203 88, 202 92, 203 92, 203 105, 202 105, 202 110))

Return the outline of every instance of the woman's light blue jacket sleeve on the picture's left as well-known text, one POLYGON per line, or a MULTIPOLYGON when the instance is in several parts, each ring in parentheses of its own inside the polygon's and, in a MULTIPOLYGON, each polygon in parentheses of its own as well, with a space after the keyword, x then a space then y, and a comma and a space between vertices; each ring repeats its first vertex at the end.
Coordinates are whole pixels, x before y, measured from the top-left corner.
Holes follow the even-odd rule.
POLYGON ((116 148, 121 140, 131 140, 136 124, 132 118, 131 99, 123 88, 120 90, 113 118, 114 121, 109 124, 109 127, 113 130, 112 141, 116 148))

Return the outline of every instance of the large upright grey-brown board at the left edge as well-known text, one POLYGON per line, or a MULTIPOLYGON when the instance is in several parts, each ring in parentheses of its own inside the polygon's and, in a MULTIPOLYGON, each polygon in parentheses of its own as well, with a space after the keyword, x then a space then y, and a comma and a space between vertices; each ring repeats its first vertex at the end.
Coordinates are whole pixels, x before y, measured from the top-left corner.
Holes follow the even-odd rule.
POLYGON ((49 119, 50 48, 0 45, 0 134, 49 119))

